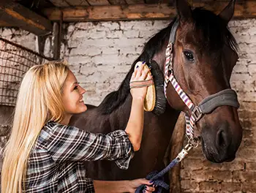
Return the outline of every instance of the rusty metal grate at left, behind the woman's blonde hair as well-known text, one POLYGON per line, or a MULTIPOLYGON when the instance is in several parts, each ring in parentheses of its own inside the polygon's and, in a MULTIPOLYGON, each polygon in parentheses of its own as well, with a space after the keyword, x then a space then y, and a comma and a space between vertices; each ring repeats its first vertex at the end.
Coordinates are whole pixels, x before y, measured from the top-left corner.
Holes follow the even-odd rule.
POLYGON ((0 37, 0 105, 15 106, 23 75, 35 64, 49 60, 0 37))

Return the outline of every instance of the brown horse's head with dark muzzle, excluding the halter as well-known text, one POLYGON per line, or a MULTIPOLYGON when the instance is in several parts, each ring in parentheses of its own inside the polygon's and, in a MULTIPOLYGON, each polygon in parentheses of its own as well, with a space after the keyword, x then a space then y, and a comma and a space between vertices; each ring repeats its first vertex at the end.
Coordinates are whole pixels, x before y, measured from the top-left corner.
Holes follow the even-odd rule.
MULTIPOLYGON (((230 1, 219 15, 215 15, 199 8, 191 10, 187 1, 176 0, 179 22, 173 45, 173 75, 195 105, 207 96, 230 88, 230 76, 238 60, 236 41, 227 28, 234 4, 230 1)), ((191 114, 171 83, 167 85, 167 102, 191 114)), ((242 137, 236 107, 216 107, 196 126, 208 160, 225 162, 235 158, 242 137)))

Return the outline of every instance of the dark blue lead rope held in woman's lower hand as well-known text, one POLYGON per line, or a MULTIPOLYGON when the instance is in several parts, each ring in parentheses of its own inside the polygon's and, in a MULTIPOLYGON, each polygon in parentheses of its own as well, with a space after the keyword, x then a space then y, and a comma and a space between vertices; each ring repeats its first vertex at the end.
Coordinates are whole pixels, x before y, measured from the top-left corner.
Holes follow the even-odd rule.
MULTIPOLYGON (((157 189, 157 193, 161 193, 162 189, 169 189, 169 185, 167 183, 165 183, 164 181, 164 175, 165 173, 167 173, 170 168, 174 167, 176 164, 178 164, 178 159, 173 159, 172 162, 170 162, 170 164, 167 165, 167 167, 165 167, 165 169, 163 169, 162 171, 160 171, 159 173, 157 173, 157 171, 153 172, 153 173, 149 173, 146 177, 147 180, 149 181, 153 181, 154 185, 158 186, 157 189)), ((145 185, 140 185, 138 186, 138 188, 136 189, 135 193, 141 193, 143 192, 143 189, 145 188, 145 185)))

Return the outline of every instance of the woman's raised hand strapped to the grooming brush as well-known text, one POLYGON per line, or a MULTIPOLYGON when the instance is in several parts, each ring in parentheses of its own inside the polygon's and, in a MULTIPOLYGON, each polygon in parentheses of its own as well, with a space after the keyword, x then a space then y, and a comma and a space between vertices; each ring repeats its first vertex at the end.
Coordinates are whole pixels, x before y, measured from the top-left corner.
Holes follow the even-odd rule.
MULTIPOLYGON (((146 64, 141 64, 140 67, 135 69, 135 72, 132 73, 130 82, 132 81, 141 81, 141 80, 150 80, 152 76, 148 73, 149 69, 144 68, 146 64)), ((133 99, 142 99, 144 101, 146 97, 147 87, 132 88, 131 94, 133 99)))

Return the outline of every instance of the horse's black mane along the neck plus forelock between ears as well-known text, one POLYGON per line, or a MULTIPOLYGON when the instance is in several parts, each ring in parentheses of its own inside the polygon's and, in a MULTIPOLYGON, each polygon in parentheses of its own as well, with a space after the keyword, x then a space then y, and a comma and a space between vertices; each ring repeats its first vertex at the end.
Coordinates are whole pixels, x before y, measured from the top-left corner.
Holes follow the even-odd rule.
MULTIPOLYGON (((214 15, 214 13, 208 10, 195 8, 195 10, 192 11, 192 18, 195 21, 195 26, 202 29, 205 38, 208 39, 208 41, 206 41, 206 45, 204 45, 204 48, 207 46, 208 49, 216 50, 227 43, 230 48, 235 51, 237 50, 236 39, 230 33, 228 27, 222 22, 222 20, 220 20, 217 15, 214 15), (219 31, 221 31, 221 33, 219 31)), ((176 21, 176 19, 177 18, 174 18, 169 26, 167 26, 165 29, 162 29, 157 34, 155 34, 154 37, 149 39, 143 48, 143 52, 132 64, 131 69, 119 86, 118 90, 108 94, 99 105, 99 111, 101 113, 110 114, 113 112, 113 110, 116 110, 119 105, 124 103, 127 95, 129 94, 129 80, 132 77, 135 64, 137 61, 150 61, 155 53, 158 53, 162 50, 162 46, 165 45, 169 39, 171 27, 173 26, 173 23, 176 21)))

